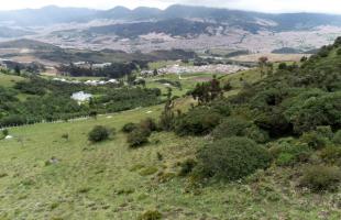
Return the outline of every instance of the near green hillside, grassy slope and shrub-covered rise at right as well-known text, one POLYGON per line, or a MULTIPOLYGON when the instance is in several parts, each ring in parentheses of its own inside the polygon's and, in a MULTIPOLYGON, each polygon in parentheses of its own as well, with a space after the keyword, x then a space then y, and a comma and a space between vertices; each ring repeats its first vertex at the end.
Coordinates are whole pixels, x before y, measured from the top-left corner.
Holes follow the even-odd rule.
POLYGON ((230 84, 223 94, 218 78, 199 84, 200 106, 187 96, 10 129, 13 139, 0 141, 0 218, 340 219, 340 47, 339 38, 299 65, 218 77, 230 84), (148 130, 139 122, 161 114, 169 128, 130 147, 121 128, 148 130), (95 125, 117 133, 90 143, 95 125))

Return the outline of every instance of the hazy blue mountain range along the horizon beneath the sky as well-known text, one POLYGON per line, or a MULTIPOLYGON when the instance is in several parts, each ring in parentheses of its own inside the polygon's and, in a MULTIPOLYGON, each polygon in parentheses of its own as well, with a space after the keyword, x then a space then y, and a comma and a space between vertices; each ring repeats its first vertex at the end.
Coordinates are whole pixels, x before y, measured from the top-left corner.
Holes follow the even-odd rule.
POLYGON ((165 10, 155 8, 136 8, 134 10, 117 7, 110 10, 91 10, 84 8, 45 7, 2 11, 0 22, 12 22, 18 25, 46 25, 69 22, 88 22, 96 19, 125 21, 161 21, 169 19, 196 19, 204 22, 222 23, 241 26, 248 30, 271 29, 288 31, 312 29, 318 25, 341 26, 341 15, 318 13, 258 13, 241 10, 217 9, 206 7, 172 6, 165 10))

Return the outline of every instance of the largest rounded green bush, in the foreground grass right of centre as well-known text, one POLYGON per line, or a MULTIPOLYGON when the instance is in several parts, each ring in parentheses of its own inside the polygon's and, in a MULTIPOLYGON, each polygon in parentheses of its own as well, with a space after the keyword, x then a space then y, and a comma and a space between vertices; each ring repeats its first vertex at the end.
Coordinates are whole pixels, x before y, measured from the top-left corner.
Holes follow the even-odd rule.
POLYGON ((222 139, 207 145, 197 154, 196 172, 202 177, 237 180, 256 169, 267 168, 268 152, 246 138, 222 139))

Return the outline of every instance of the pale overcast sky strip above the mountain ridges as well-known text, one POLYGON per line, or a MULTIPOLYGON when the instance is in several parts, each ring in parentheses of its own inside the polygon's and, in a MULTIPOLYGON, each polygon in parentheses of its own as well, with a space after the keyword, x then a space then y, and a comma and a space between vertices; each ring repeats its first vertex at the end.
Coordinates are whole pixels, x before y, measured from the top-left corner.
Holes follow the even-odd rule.
POLYGON ((327 12, 341 13, 341 0, 0 0, 1 10, 61 7, 109 9, 116 6, 128 8, 155 7, 165 9, 175 3, 242 9, 263 12, 327 12))

